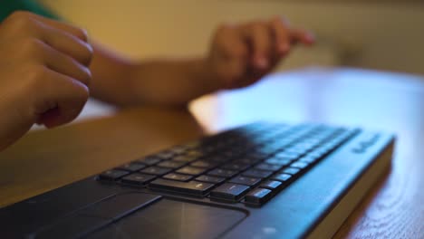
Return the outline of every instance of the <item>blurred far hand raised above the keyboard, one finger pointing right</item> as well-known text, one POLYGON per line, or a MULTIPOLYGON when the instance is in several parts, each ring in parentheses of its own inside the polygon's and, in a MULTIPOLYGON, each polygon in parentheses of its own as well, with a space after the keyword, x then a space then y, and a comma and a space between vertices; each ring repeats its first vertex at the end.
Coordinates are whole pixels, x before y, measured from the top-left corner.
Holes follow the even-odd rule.
POLYGON ((281 17, 270 21, 222 25, 207 59, 218 89, 244 87, 270 72, 295 43, 313 44, 311 33, 293 29, 281 17))

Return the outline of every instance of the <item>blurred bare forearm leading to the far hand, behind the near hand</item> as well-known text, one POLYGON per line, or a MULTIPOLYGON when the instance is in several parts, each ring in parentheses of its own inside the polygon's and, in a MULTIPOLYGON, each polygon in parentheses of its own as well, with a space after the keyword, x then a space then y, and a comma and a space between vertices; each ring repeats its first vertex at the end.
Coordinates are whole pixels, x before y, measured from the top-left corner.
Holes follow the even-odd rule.
POLYGON ((181 106, 218 85, 202 58, 132 62, 100 47, 92 60, 92 96, 119 106, 181 106))

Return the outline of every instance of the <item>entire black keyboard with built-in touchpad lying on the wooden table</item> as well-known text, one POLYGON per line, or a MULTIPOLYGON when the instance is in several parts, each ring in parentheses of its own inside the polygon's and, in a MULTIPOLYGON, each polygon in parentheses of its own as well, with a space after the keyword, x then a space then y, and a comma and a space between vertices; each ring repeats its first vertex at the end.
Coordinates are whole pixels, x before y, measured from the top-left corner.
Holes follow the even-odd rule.
POLYGON ((0 209, 2 238, 329 238, 390 168, 390 133, 255 122, 0 209))

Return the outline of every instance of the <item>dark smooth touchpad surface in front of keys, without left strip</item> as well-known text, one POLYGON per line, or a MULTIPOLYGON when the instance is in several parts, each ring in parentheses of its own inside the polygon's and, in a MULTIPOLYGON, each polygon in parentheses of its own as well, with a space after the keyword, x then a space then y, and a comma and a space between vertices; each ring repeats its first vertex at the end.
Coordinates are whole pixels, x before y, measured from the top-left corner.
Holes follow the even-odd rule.
POLYGON ((245 217, 239 210, 161 199, 88 238, 217 238, 245 217))

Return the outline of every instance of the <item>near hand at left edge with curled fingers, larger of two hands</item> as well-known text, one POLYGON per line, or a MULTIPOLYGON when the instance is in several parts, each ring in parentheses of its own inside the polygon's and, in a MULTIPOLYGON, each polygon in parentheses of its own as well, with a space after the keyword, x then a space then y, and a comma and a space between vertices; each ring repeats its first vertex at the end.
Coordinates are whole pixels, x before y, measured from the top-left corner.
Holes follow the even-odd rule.
POLYGON ((75 119, 89 97, 92 46, 69 24, 15 12, 0 24, 0 150, 34 123, 75 119))

